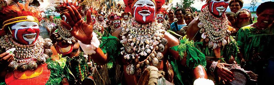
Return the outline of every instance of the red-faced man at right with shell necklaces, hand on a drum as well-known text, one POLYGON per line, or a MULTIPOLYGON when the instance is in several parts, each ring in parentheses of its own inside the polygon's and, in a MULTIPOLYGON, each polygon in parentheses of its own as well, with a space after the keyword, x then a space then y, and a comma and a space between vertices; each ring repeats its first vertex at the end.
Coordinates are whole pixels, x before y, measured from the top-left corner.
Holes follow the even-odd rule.
POLYGON ((217 75, 224 81, 235 79, 234 74, 225 68, 236 63, 235 57, 238 53, 237 42, 230 36, 234 29, 224 14, 227 6, 228 0, 207 0, 198 18, 186 30, 187 38, 194 43, 204 43, 196 48, 205 54, 209 69, 207 73, 209 78, 216 81, 215 84, 221 82, 211 75, 217 75))

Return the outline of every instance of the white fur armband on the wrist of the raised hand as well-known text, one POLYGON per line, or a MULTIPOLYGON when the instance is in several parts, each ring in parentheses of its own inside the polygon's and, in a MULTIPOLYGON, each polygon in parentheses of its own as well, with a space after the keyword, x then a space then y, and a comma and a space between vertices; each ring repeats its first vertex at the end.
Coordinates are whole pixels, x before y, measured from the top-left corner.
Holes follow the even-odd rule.
POLYGON ((86 53, 86 54, 95 54, 96 52, 94 51, 96 48, 99 47, 100 45, 100 41, 98 40, 96 34, 94 32, 92 32, 92 40, 90 41, 90 44, 83 44, 81 41, 78 41, 82 50, 86 53))

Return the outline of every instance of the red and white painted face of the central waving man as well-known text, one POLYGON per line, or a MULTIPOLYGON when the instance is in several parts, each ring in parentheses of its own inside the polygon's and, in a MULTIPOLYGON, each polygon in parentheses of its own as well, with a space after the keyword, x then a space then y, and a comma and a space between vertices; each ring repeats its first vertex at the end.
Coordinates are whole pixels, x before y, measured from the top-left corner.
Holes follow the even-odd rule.
POLYGON ((147 24, 154 20, 156 12, 155 4, 150 0, 136 1, 132 7, 132 13, 137 22, 140 24, 147 24))

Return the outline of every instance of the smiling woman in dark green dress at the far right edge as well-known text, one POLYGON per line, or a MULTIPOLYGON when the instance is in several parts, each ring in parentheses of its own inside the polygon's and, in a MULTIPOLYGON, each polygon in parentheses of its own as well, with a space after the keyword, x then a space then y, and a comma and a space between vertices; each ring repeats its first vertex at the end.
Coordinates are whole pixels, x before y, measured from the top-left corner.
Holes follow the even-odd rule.
POLYGON ((274 2, 258 6, 257 22, 237 33, 241 67, 258 74, 258 85, 273 85, 274 2))

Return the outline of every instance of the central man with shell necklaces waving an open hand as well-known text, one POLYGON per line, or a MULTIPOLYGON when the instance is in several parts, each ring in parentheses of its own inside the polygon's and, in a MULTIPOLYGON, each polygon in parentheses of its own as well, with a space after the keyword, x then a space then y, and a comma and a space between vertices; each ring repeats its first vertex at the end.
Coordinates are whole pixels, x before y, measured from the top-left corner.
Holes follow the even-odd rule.
MULTIPOLYGON (((124 2, 130 1, 125 0, 124 2)), ((83 22, 76 8, 70 6, 67 7, 69 13, 66 12, 65 14, 69 16, 68 19, 73 21, 68 23, 62 21, 62 23, 67 28, 73 28, 70 33, 81 41, 82 44, 80 46, 84 52, 90 52, 90 49, 96 52, 95 54, 92 53, 93 55, 98 55, 93 57, 95 63, 105 64, 111 60, 122 65, 124 71, 123 75, 120 75, 122 76, 122 84, 136 85, 158 82, 158 75, 161 75, 159 71, 164 71, 166 74, 165 76, 160 76, 161 80, 158 84, 164 83, 162 82, 162 77, 172 82, 173 70, 167 60, 168 54, 171 54, 173 58, 180 61, 184 66, 186 66, 186 61, 192 62, 192 60, 189 60, 190 58, 186 58, 186 56, 180 57, 177 51, 170 49, 170 47, 179 45, 179 41, 169 33, 165 33, 162 26, 155 21, 156 6, 161 6, 155 2, 154 0, 135 0, 132 3, 128 3, 129 5, 127 6, 131 6, 131 12, 134 17, 129 21, 129 24, 114 31, 112 36, 105 39, 104 43, 100 45, 106 56, 101 55, 101 50, 98 46, 94 46, 95 38, 92 37, 93 35, 90 36, 92 31, 85 30, 92 28, 92 25, 88 24, 91 21, 91 16, 87 16, 87 22, 83 22), (82 30, 85 31, 83 32, 82 30), (143 72, 144 75, 142 75, 143 72), (148 75, 147 73, 150 73, 153 78, 148 78, 149 76, 146 76, 148 75), (148 82, 148 79, 151 81, 148 82)), ((90 11, 87 12, 87 14, 89 13, 90 11)), ((114 21, 114 23, 117 22, 114 21)), ((204 69, 205 58, 198 57, 196 59, 201 59, 202 61, 193 61, 196 64, 188 63, 187 65, 191 65, 189 67, 190 72, 193 78, 197 79, 196 82, 200 80, 207 81, 204 79, 207 78, 204 69)), ((213 82, 211 81, 210 83, 212 84, 213 82)))

